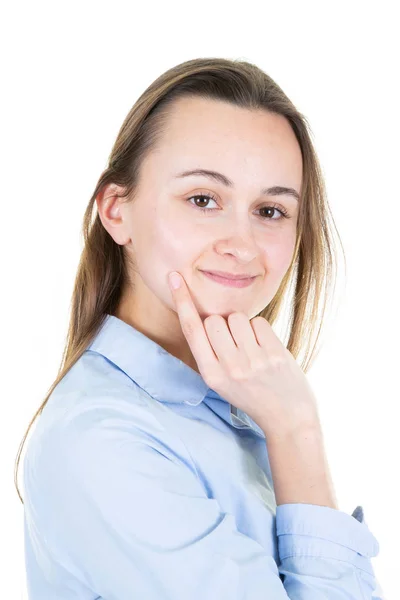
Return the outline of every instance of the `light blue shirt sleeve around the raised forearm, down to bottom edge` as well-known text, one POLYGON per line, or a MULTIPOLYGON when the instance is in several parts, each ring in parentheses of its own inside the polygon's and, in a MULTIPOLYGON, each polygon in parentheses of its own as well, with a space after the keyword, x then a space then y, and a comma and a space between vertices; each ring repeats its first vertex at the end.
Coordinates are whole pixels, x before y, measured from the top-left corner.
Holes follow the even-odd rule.
POLYGON ((279 573, 290 598, 306 598, 310 586, 322 592, 328 585, 332 594, 335 589, 342 594, 321 598, 384 600, 371 564, 379 543, 361 506, 348 515, 328 506, 281 504, 276 531, 279 573))

